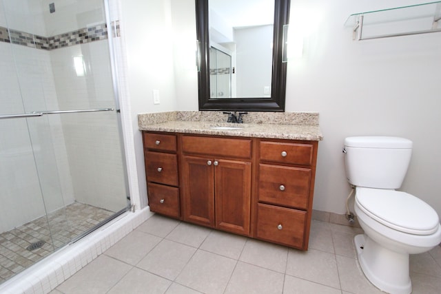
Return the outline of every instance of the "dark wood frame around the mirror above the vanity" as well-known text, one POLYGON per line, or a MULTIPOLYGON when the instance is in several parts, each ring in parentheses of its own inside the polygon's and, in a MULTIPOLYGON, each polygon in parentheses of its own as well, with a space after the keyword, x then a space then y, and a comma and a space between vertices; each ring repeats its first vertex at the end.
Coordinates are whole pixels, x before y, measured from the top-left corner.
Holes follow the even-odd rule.
POLYGON ((275 0, 271 98, 210 98, 208 0, 196 1, 196 36, 199 41, 199 110, 284 112, 287 63, 282 62, 283 25, 289 21, 289 1, 275 0))

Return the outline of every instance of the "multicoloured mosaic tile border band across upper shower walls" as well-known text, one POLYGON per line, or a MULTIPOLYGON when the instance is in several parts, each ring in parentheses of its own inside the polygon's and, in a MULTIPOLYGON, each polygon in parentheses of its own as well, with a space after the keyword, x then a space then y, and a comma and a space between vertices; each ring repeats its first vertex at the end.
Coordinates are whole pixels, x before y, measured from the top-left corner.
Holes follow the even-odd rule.
MULTIPOLYGON (((121 36, 119 21, 112 21, 115 36, 121 36), (115 35, 116 34, 116 35, 115 35)), ((0 26, 0 42, 23 45, 41 50, 54 50, 72 45, 90 43, 107 39, 107 23, 100 23, 88 28, 81 28, 72 32, 65 32, 55 36, 39 36, 19 30, 12 30, 0 26)))

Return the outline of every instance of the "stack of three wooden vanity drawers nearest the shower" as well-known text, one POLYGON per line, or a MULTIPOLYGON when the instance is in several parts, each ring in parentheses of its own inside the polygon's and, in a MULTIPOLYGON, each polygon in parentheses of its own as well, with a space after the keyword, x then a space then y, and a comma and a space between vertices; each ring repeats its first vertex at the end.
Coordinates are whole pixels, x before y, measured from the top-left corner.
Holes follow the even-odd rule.
POLYGON ((181 217, 176 135, 143 132, 150 210, 181 217))

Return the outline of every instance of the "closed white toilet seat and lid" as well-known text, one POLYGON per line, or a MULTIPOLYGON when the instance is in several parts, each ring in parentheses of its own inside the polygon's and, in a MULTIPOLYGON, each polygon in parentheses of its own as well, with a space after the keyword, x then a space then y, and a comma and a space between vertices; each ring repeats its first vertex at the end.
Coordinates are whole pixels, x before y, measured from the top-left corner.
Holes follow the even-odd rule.
POLYGON ((440 225, 429 204, 402 191, 357 187, 356 202, 377 222, 404 233, 430 235, 440 225))

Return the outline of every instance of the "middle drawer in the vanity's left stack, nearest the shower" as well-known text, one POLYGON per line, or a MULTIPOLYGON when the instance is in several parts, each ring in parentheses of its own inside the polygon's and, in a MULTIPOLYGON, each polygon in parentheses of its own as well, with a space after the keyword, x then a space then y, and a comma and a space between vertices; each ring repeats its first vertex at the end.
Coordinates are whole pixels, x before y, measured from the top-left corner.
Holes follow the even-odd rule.
POLYGON ((145 151, 145 173, 149 182, 178 186, 178 157, 154 151, 145 151))

